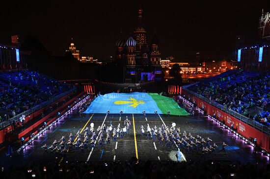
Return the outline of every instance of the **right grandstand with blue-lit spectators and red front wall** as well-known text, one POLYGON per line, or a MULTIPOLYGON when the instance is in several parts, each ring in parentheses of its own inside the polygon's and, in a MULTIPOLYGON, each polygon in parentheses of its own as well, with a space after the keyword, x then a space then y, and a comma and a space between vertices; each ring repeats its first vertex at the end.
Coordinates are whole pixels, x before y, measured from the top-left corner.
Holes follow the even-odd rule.
POLYGON ((182 87, 182 97, 220 125, 270 152, 269 73, 231 71, 182 87))

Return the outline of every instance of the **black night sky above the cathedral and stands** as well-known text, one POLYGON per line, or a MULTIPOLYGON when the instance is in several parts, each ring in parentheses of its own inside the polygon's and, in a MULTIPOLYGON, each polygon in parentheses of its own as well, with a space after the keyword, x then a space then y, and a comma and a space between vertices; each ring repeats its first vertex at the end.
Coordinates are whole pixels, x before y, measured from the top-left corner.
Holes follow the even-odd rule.
POLYGON ((270 11, 270 0, 26 1, 1 2, 1 44, 9 44, 11 35, 33 35, 54 55, 64 55, 73 37, 81 55, 95 58, 114 56, 120 31, 127 38, 137 26, 139 4, 147 41, 156 29, 162 58, 182 61, 194 59, 196 51, 201 58, 231 59, 235 36, 255 42, 262 8, 270 11))

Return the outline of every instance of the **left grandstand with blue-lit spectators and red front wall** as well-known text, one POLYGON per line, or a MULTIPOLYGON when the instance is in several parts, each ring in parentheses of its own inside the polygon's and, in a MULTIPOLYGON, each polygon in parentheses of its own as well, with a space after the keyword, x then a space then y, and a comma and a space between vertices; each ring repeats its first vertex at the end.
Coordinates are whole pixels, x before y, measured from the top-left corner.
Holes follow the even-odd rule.
MULTIPOLYGON (((0 73, 0 146, 31 138, 54 121, 83 93, 74 85, 58 82, 38 72, 13 70, 0 73)), ((2 148, 3 149, 3 148, 2 148)))

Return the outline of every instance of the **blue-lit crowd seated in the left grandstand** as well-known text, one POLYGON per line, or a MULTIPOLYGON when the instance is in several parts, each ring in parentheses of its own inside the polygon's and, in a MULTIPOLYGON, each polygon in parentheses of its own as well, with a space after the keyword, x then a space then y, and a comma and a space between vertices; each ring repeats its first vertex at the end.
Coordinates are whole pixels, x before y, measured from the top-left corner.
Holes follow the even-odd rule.
POLYGON ((29 70, 0 74, 0 120, 14 117, 27 109, 50 100, 71 86, 29 70))

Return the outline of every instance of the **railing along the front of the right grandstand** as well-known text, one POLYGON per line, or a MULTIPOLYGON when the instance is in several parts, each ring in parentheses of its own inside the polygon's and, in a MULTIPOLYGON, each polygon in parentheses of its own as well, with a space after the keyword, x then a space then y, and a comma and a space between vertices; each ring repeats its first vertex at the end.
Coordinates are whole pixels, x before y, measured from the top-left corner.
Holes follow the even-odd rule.
POLYGON ((244 116, 244 115, 242 115, 242 114, 240 114, 240 113, 238 113, 238 112, 236 112, 236 111, 234 111, 232 109, 229 109, 229 108, 217 103, 217 102, 211 101, 211 100, 205 98, 204 96, 202 96, 200 94, 197 94, 197 93, 195 93, 193 91, 190 91, 189 89, 186 88, 186 86, 185 87, 183 86, 182 90, 184 90, 184 91, 188 92, 189 94, 191 94, 191 95, 193 95, 193 96, 195 96, 195 97, 197 97, 197 98, 199 98, 199 99, 201 99, 201 100, 203 100, 203 101, 217 107, 218 109, 221 109, 222 111, 225 111, 226 113, 228 113, 231 116, 239 119, 240 121, 248 124, 249 126, 252 126, 253 128, 256 128, 256 129, 270 135, 270 127, 267 127, 267 126, 265 126, 265 125, 263 125, 263 124, 261 124, 261 123, 259 123, 257 121, 254 121, 253 119, 250 119, 250 118, 248 118, 248 117, 246 117, 246 116, 244 116))

